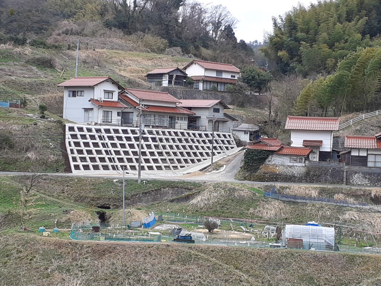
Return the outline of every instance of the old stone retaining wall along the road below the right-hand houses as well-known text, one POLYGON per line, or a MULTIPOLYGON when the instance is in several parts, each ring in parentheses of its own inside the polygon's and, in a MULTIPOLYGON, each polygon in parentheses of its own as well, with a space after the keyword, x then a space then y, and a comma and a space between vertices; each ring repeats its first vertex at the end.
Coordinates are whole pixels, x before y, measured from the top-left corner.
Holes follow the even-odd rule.
POLYGON ((295 182, 381 186, 381 168, 344 166, 337 162, 306 161, 305 166, 263 164, 247 178, 263 182, 295 182))

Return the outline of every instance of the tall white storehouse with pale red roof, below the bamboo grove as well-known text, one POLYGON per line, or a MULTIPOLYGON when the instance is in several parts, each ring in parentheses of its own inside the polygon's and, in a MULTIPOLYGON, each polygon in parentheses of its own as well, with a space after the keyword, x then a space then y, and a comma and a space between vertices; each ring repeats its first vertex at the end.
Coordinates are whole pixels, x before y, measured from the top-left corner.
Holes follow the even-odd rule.
POLYGON ((288 116, 285 129, 291 131, 291 146, 310 147, 311 161, 330 161, 333 131, 339 130, 338 117, 288 116))

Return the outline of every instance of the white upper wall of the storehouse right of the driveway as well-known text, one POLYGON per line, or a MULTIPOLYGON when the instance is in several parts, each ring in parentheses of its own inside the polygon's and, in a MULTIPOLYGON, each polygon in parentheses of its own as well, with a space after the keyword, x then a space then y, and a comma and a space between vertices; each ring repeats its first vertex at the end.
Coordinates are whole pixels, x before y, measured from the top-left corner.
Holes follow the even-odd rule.
POLYGON ((320 151, 332 151, 333 132, 315 130, 291 130, 291 146, 303 147, 303 140, 323 140, 320 151))

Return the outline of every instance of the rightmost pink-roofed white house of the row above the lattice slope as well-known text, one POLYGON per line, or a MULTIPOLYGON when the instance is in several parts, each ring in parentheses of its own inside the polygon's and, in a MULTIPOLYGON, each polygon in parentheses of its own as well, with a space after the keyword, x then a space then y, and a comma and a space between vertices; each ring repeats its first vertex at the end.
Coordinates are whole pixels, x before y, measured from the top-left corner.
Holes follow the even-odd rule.
POLYGON ((195 113, 188 117, 188 125, 197 130, 232 133, 233 122, 237 121, 225 113, 230 107, 222 100, 181 100, 179 106, 195 113))

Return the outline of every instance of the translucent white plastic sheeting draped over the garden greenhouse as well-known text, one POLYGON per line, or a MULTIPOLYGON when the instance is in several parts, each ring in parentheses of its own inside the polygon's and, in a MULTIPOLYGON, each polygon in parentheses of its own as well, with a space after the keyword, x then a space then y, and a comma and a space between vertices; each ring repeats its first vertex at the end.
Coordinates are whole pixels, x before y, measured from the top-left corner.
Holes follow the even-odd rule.
POLYGON ((283 243, 287 238, 303 239, 303 243, 318 243, 334 246, 335 228, 333 227, 314 227, 309 225, 286 225, 283 232, 283 243))

